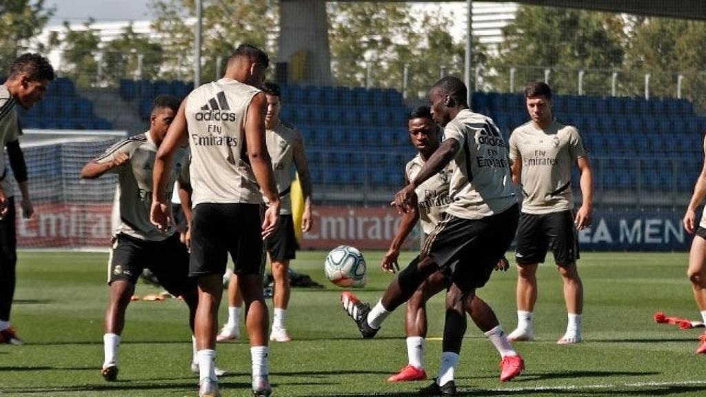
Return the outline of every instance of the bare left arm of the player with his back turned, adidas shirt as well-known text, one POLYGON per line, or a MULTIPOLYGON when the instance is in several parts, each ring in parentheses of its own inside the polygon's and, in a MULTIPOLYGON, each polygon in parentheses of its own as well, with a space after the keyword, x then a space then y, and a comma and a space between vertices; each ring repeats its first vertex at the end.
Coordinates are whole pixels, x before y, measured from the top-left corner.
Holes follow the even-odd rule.
POLYGON ((186 124, 186 100, 181 102, 179 112, 174 117, 174 121, 169 125, 167 136, 164 136, 164 141, 160 145, 155 155, 155 166, 152 170, 152 208, 150 210, 150 222, 161 230, 167 230, 172 223, 172 208, 167 201, 167 179, 169 179, 169 171, 172 168, 172 158, 174 153, 182 147, 186 146, 189 139, 187 135, 186 124))

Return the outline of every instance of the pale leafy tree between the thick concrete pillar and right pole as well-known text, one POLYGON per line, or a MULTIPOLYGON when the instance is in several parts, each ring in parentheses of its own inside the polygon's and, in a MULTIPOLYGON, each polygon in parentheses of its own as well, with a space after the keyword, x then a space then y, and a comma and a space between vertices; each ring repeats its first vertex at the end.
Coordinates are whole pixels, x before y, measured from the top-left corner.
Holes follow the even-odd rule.
MULTIPOLYGON (((448 32, 450 17, 441 13, 415 14, 409 4, 340 2, 328 5, 329 43, 334 81, 364 86, 370 67, 371 84, 402 88, 408 72, 412 95, 426 90, 441 74, 462 77, 465 45, 448 32)), ((476 64, 485 49, 475 42, 476 64)))

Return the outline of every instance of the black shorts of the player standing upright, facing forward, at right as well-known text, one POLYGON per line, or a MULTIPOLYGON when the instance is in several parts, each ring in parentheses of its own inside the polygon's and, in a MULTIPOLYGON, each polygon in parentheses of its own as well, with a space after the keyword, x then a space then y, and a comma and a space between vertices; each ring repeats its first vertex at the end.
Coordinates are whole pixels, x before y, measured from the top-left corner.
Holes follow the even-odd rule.
POLYGON ((554 253, 558 266, 566 266, 579 259, 573 211, 520 215, 515 249, 517 264, 544 263, 548 249, 554 253))

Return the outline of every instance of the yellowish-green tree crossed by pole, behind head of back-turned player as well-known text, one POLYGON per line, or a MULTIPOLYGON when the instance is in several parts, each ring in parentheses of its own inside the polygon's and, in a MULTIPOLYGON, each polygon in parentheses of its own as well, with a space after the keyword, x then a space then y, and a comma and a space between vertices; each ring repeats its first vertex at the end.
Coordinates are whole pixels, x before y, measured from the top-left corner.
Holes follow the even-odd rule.
MULTIPOLYGON (((194 1, 151 0, 150 9, 155 16, 152 28, 164 49, 167 64, 164 78, 191 80, 194 30, 193 22, 188 21, 195 17, 194 1), (178 62, 181 69, 177 68, 178 62)), ((205 2, 201 81, 215 79, 219 69, 217 59, 225 64, 234 49, 244 42, 265 49, 274 59, 278 20, 275 0, 205 2)))

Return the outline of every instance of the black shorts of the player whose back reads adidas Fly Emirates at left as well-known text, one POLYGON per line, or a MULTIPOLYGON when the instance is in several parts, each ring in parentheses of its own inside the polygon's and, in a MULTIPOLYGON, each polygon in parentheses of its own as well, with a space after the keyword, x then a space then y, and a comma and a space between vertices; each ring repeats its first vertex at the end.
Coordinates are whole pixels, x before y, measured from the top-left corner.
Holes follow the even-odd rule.
POLYGON ((263 275, 264 206, 248 203, 200 203, 191 218, 189 275, 223 274, 228 254, 234 273, 263 275))

